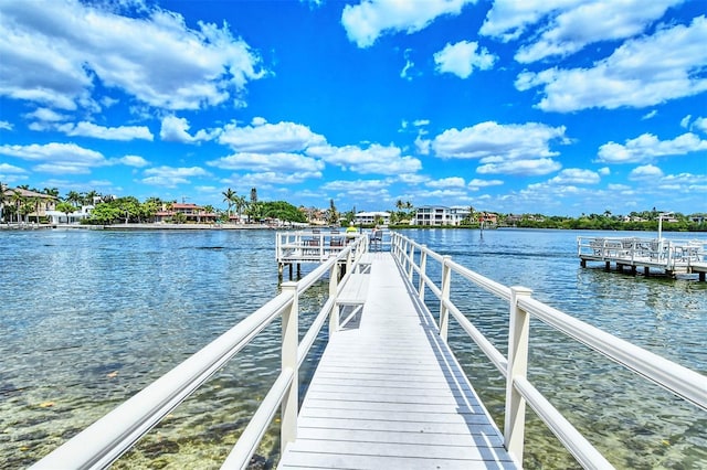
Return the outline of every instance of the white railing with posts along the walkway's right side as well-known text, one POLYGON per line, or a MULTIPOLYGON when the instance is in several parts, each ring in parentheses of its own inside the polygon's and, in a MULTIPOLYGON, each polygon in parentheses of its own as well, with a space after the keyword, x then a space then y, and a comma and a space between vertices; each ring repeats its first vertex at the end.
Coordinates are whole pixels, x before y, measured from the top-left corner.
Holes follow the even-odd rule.
POLYGON ((706 376, 553 309, 534 299, 531 290, 527 288, 506 287, 452 261, 450 256, 436 254, 398 233, 392 234, 391 250, 411 282, 413 274, 418 275, 416 291, 420 299, 424 301, 426 288, 440 300, 440 335, 446 341, 451 313, 506 377, 504 439, 506 449, 517 461, 523 461, 527 403, 583 468, 612 468, 589 440, 528 381, 526 374, 531 316, 678 397, 707 409, 706 376), (430 258, 441 265, 439 286, 426 274, 430 258), (450 300, 453 273, 508 301, 510 318, 507 359, 450 300))

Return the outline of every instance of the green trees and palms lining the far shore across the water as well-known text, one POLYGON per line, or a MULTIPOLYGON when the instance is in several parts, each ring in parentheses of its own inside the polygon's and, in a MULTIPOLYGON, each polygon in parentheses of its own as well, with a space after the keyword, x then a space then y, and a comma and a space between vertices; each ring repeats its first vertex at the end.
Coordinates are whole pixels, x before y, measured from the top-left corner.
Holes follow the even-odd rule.
MULTIPOLYGON (((20 189, 46 194, 59 202, 56 211, 67 216, 83 205, 93 205, 91 214, 82 223, 96 225, 110 225, 117 223, 149 223, 155 222, 156 215, 161 210, 171 212, 169 222, 184 223, 187 216, 177 211, 172 211, 177 201, 163 201, 160 197, 148 197, 144 202, 135 196, 115 197, 103 195, 97 191, 78 193, 67 192, 60 196, 57 188, 44 188, 42 191, 30 189, 29 185, 19 185, 13 191, 7 191, 0 183, 0 220, 4 222, 29 222, 29 214, 39 213, 41 196, 24 196, 20 189)), ((346 212, 339 212, 334 200, 329 200, 329 207, 319 210, 316 207, 296 207, 286 201, 260 201, 257 190, 251 189, 250 197, 238 194, 231 188, 221 193, 223 202, 226 204, 225 211, 212 205, 201 207, 204 214, 210 214, 210 220, 214 222, 228 223, 236 220, 239 222, 252 223, 264 220, 279 220, 283 222, 307 223, 313 220, 323 221, 329 225, 348 225, 356 218, 356 206, 346 212)), ((394 227, 415 226, 415 207, 410 201, 398 200, 394 210, 389 211, 389 223, 394 227)), ((479 226, 478 215, 482 212, 468 206, 468 215, 461 222, 461 227, 475 228, 479 226)), ((655 207, 651 211, 631 212, 627 216, 614 215, 611 211, 602 214, 581 214, 579 217, 569 216, 547 216, 544 214, 502 214, 496 213, 498 226, 510 226, 520 228, 564 228, 564 229, 604 229, 604 231, 656 231, 661 212, 655 207)), ((35 222, 42 222, 38 220, 35 222)), ((382 224, 382 217, 376 221, 382 224)), ((707 214, 697 213, 685 215, 682 213, 669 213, 669 217, 664 217, 663 229, 678 232, 706 232, 707 214)))

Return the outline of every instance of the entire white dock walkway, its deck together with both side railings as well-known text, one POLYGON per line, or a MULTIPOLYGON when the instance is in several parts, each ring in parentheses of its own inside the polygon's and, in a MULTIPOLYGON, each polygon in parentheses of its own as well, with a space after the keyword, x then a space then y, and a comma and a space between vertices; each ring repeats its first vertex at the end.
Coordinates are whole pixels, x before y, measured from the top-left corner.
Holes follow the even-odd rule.
POLYGON ((523 461, 526 406, 581 467, 613 468, 528 380, 530 318, 707 410, 707 376, 553 309, 529 289, 390 236, 389 252, 372 253, 359 236, 303 279, 283 282, 278 296, 32 468, 109 467, 275 320, 279 374, 222 468, 247 468, 278 412, 282 468, 514 468, 523 461), (439 279, 428 269, 434 263, 439 279), (451 300, 453 274, 508 302, 507 354, 451 300), (328 297, 299 331, 299 297, 321 281, 328 297), (505 377, 503 435, 446 346, 451 321, 505 377), (299 370, 325 324, 329 344, 299 408, 299 370))

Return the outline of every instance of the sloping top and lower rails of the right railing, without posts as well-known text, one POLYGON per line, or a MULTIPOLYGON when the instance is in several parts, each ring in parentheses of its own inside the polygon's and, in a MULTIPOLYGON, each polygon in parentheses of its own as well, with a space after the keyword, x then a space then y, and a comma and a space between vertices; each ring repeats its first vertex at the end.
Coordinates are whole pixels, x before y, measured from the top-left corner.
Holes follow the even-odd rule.
MULTIPOLYGON (((521 314, 530 314, 546 324, 559 330, 568 337, 590 346, 594 351, 604 354, 609 359, 618 362, 624 367, 636 372, 641 376, 658 384, 683 399, 690 402, 703 409, 707 409, 707 377, 661 357, 640 346, 621 340, 610 333, 606 333, 595 327, 590 325, 581 320, 568 316, 557 309, 553 309, 528 295, 513 296, 513 289, 490 280, 477 273, 474 273, 443 255, 436 254, 429 249, 425 245, 416 244, 410 238, 393 234, 391 252, 401 264, 412 264, 412 270, 419 276, 418 288, 419 295, 423 287, 428 287, 437 299, 441 300, 441 316, 444 311, 449 311, 454 317, 462 329, 474 340, 482 351, 489 357, 496 368, 506 377, 510 388, 519 393, 524 400, 530 405, 540 419, 558 436, 562 445, 584 468, 612 468, 611 463, 599 453, 599 451, 528 382, 525 377, 524 367, 521 374, 509 374, 511 368, 511 359, 506 359, 503 354, 472 324, 458 308, 444 296, 444 289, 437 287, 434 281, 426 275, 425 268, 414 265, 414 257, 408 253, 409 246, 414 246, 421 253, 421 259, 432 258, 440 263, 442 269, 451 268, 452 273, 464 277, 472 284, 482 289, 494 293, 496 297, 511 302, 515 299, 517 311, 521 314), (423 255, 424 254, 424 255, 423 255)), ((578 239, 578 249, 581 253, 583 245, 581 237, 578 239)), ((606 249, 606 242, 602 241, 601 249, 606 249)), ((635 243, 633 247, 637 246, 635 243)), ((404 268, 403 268, 404 269, 404 268)), ((443 276, 444 280, 444 276, 443 276)), ((441 281, 442 282, 442 281, 441 281)), ((411 282, 412 285, 412 282, 411 282)), ((414 287, 414 286, 413 286, 414 287)), ((517 288, 523 291, 523 288, 517 288)), ((421 296, 422 297, 422 296, 421 296)), ((514 306, 511 305, 511 318, 514 317, 514 306)), ((446 321, 441 318, 441 322, 446 321)), ((443 331, 441 329, 441 334, 443 331)), ((510 341, 509 334, 509 341, 510 341)), ((524 343, 526 340, 524 340, 524 343)), ((509 350, 511 346, 509 345, 509 350)), ((517 405, 521 406, 521 405, 517 405)), ((508 413, 508 409, 506 410, 508 413)), ((520 421, 523 427, 523 420, 520 421)), ((523 429, 519 430, 523 436, 523 429)), ((513 434, 513 432, 511 432, 513 434)), ((508 442, 506 442, 508 446, 508 442)), ((520 455, 515 456, 518 461, 523 460, 523 449, 520 455)))

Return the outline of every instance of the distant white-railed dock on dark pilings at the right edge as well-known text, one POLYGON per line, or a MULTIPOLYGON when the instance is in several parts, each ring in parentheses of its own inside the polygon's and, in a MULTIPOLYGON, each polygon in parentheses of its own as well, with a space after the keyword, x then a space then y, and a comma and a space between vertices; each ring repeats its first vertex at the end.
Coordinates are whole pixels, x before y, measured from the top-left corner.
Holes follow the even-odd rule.
POLYGON ((613 263, 621 273, 627 268, 634 275, 642 269, 644 276, 651 276, 651 269, 668 277, 696 274, 700 281, 707 274, 707 243, 704 241, 580 236, 577 237, 577 249, 582 267, 587 267, 588 261, 598 261, 611 270, 613 263))

